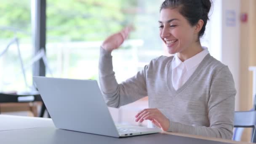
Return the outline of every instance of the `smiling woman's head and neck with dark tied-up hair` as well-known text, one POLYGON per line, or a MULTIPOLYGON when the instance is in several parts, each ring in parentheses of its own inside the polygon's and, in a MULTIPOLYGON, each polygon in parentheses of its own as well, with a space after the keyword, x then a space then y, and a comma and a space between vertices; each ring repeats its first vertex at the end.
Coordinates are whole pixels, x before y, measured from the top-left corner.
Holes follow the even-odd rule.
POLYGON ((178 53, 184 61, 202 51, 199 37, 205 32, 210 8, 209 0, 202 3, 182 0, 163 2, 160 8, 160 37, 169 53, 178 53))

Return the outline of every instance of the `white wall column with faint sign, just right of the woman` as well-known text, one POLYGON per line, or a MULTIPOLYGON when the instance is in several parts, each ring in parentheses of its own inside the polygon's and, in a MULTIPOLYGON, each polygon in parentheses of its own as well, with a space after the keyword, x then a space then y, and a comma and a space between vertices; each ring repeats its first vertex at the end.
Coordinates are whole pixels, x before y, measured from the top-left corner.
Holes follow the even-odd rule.
POLYGON ((221 61, 229 66, 237 89, 235 109, 239 109, 240 0, 222 0, 221 61))

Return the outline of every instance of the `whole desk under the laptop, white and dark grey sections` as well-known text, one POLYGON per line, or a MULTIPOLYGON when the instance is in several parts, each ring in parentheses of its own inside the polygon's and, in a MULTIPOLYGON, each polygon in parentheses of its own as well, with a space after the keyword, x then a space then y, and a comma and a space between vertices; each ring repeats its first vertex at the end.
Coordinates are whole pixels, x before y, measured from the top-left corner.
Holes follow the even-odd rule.
POLYGON ((89 133, 61 130, 51 119, 0 115, 0 144, 248 144, 224 139, 179 133, 156 133, 114 138, 89 133), (27 121, 27 122, 26 122, 27 121), (24 125, 23 123, 31 123, 24 125), (17 126, 17 128, 14 128, 17 126), (2 127, 5 127, 3 129, 2 127))

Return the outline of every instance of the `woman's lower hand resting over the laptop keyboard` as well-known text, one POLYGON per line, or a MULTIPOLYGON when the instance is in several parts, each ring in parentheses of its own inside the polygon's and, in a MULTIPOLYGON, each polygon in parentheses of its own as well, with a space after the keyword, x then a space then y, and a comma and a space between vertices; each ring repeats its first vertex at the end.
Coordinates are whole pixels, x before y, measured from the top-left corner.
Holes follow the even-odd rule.
POLYGON ((135 115, 135 117, 136 122, 142 123, 144 120, 150 120, 158 128, 162 128, 163 131, 168 131, 170 126, 169 119, 159 109, 144 109, 135 115))

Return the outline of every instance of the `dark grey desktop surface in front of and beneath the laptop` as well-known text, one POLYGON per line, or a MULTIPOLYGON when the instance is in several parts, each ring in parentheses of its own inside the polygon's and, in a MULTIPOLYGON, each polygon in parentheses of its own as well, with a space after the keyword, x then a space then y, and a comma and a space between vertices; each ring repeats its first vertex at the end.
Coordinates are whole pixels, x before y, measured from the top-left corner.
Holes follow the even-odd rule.
POLYGON ((227 144, 164 133, 114 138, 53 127, 0 131, 1 144, 227 144))

